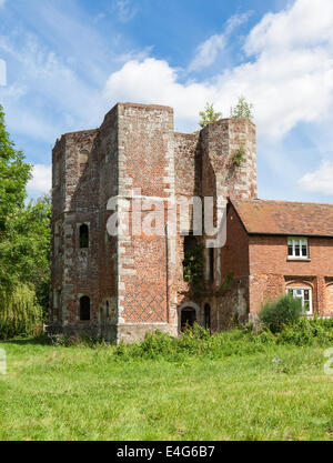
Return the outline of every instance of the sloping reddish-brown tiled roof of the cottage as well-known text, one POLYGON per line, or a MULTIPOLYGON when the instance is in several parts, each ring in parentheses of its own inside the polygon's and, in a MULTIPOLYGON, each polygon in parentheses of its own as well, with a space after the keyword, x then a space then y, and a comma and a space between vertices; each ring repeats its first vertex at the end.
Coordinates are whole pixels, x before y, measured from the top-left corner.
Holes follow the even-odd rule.
POLYGON ((333 236, 333 204, 232 200, 248 233, 333 236))

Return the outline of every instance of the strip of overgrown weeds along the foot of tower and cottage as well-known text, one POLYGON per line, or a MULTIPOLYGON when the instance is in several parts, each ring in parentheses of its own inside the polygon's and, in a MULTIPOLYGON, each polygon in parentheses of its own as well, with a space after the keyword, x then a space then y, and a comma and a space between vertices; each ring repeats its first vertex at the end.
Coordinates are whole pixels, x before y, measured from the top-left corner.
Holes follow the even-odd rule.
POLYGON ((117 358, 164 359, 179 362, 188 356, 224 359, 231 355, 249 355, 264 352, 268 345, 316 345, 333 344, 333 320, 309 320, 302 318, 297 323, 284 325, 281 331, 253 331, 252 326, 234 329, 211 335, 198 324, 180 338, 165 333, 147 334, 141 343, 123 344, 114 348, 117 358))

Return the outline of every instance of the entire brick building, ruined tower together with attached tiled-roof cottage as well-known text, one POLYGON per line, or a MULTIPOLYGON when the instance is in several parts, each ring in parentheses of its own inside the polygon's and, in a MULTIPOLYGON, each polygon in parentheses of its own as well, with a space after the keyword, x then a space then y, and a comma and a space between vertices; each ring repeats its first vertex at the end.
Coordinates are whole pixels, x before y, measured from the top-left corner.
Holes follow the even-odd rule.
MULTIPOLYGON (((219 331, 285 292, 309 315, 333 313, 333 205, 258 200, 249 120, 183 134, 173 131, 169 107, 119 103, 99 129, 57 140, 52 165, 51 332, 132 342, 158 329, 176 335, 194 321, 219 331), (143 221, 162 211, 163 233, 110 234, 110 199, 138 194, 143 221), (213 198, 216 225, 220 200, 228 204, 225 245, 208 248, 211 235, 180 221, 170 232, 179 197, 213 198), (200 282, 184 279, 194 250, 200 282)), ((131 225, 135 213, 130 205, 131 225)))

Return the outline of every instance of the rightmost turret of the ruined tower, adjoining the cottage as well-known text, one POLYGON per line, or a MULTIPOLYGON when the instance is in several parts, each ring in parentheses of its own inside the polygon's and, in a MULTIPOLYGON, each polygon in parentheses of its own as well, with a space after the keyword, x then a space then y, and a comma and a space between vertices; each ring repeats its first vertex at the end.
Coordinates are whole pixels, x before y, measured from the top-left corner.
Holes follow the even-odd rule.
MULTIPOLYGON (((215 201, 214 224, 218 224, 219 212, 226 207, 228 198, 255 199, 256 198, 256 148, 255 125, 246 119, 222 119, 206 125, 200 135, 202 158, 202 197, 213 197, 215 201), (235 162, 235 155, 241 151, 240 165, 235 162), (222 199, 216 202, 218 197, 222 199), (220 209, 220 211, 219 211, 220 209)), ((221 217, 221 215, 220 215, 221 217)), ((229 229, 233 224, 229 222, 229 229)), ((229 232, 229 235, 233 233, 229 232)), ((210 236, 204 236, 208 240, 210 236)), ((245 240, 242 230, 235 230, 234 239, 245 240)), ((245 246, 245 242, 243 243, 245 246)), ((231 244, 229 244, 231 246, 231 244)), ((230 248, 231 249, 231 248, 230 248)), ((249 299, 249 284, 246 275, 246 260, 244 249, 232 243, 232 252, 214 250, 214 265, 216 278, 213 283, 208 283, 208 291, 212 294, 208 298, 212 306, 212 328, 221 330, 226 328, 234 313, 244 318, 249 299), (224 260, 224 263, 222 262, 224 260), (215 296, 225 273, 232 272, 239 276, 239 283, 233 283, 232 289, 222 296, 215 296), (244 280, 242 280, 244 276, 244 280), (232 313, 232 314, 231 314, 232 313)), ((208 261, 209 252, 205 252, 208 261)))

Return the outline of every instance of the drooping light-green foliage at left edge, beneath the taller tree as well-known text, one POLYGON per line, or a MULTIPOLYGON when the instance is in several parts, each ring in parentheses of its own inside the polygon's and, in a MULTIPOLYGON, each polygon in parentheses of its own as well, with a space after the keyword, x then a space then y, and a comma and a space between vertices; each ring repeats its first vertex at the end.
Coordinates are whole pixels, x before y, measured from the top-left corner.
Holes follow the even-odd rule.
POLYGON ((33 289, 18 285, 14 292, 0 292, 0 339, 37 334, 42 329, 42 309, 33 289))

